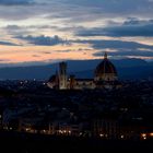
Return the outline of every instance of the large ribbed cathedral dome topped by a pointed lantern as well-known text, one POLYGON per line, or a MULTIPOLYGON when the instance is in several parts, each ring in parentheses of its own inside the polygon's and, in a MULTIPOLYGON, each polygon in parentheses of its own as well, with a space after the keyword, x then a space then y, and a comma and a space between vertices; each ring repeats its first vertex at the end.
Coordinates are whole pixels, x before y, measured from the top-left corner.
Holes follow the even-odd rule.
POLYGON ((115 66, 108 60, 107 54, 104 60, 96 67, 95 81, 115 81, 117 80, 117 71, 115 66))

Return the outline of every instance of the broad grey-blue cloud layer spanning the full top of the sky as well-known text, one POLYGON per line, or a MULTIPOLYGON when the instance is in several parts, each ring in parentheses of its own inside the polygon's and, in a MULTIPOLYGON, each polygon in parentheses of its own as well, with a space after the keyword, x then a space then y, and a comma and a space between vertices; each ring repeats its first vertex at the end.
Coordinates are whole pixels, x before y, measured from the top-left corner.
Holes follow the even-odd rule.
MULTIPOLYGON (((32 5, 34 0, 0 0, 1 5, 32 5)), ((35 0, 33 8, 22 7, 0 10, 0 17, 23 20, 33 16, 71 19, 72 22, 95 21, 107 17, 152 16, 151 0, 35 0), (40 4, 42 3, 42 4, 40 4)), ((67 22, 67 21, 66 21, 67 22)), ((68 22, 67 22, 68 23, 68 22)), ((69 23, 68 23, 69 24, 69 23)))

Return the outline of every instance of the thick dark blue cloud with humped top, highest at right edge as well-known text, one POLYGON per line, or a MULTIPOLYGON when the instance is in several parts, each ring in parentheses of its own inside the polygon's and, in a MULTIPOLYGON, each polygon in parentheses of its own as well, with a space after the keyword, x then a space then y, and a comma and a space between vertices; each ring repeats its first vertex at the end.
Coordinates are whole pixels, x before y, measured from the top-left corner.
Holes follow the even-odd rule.
POLYGON ((130 19, 123 22, 122 25, 108 27, 94 27, 89 30, 81 30, 76 32, 79 36, 153 36, 153 20, 144 21, 130 19))

